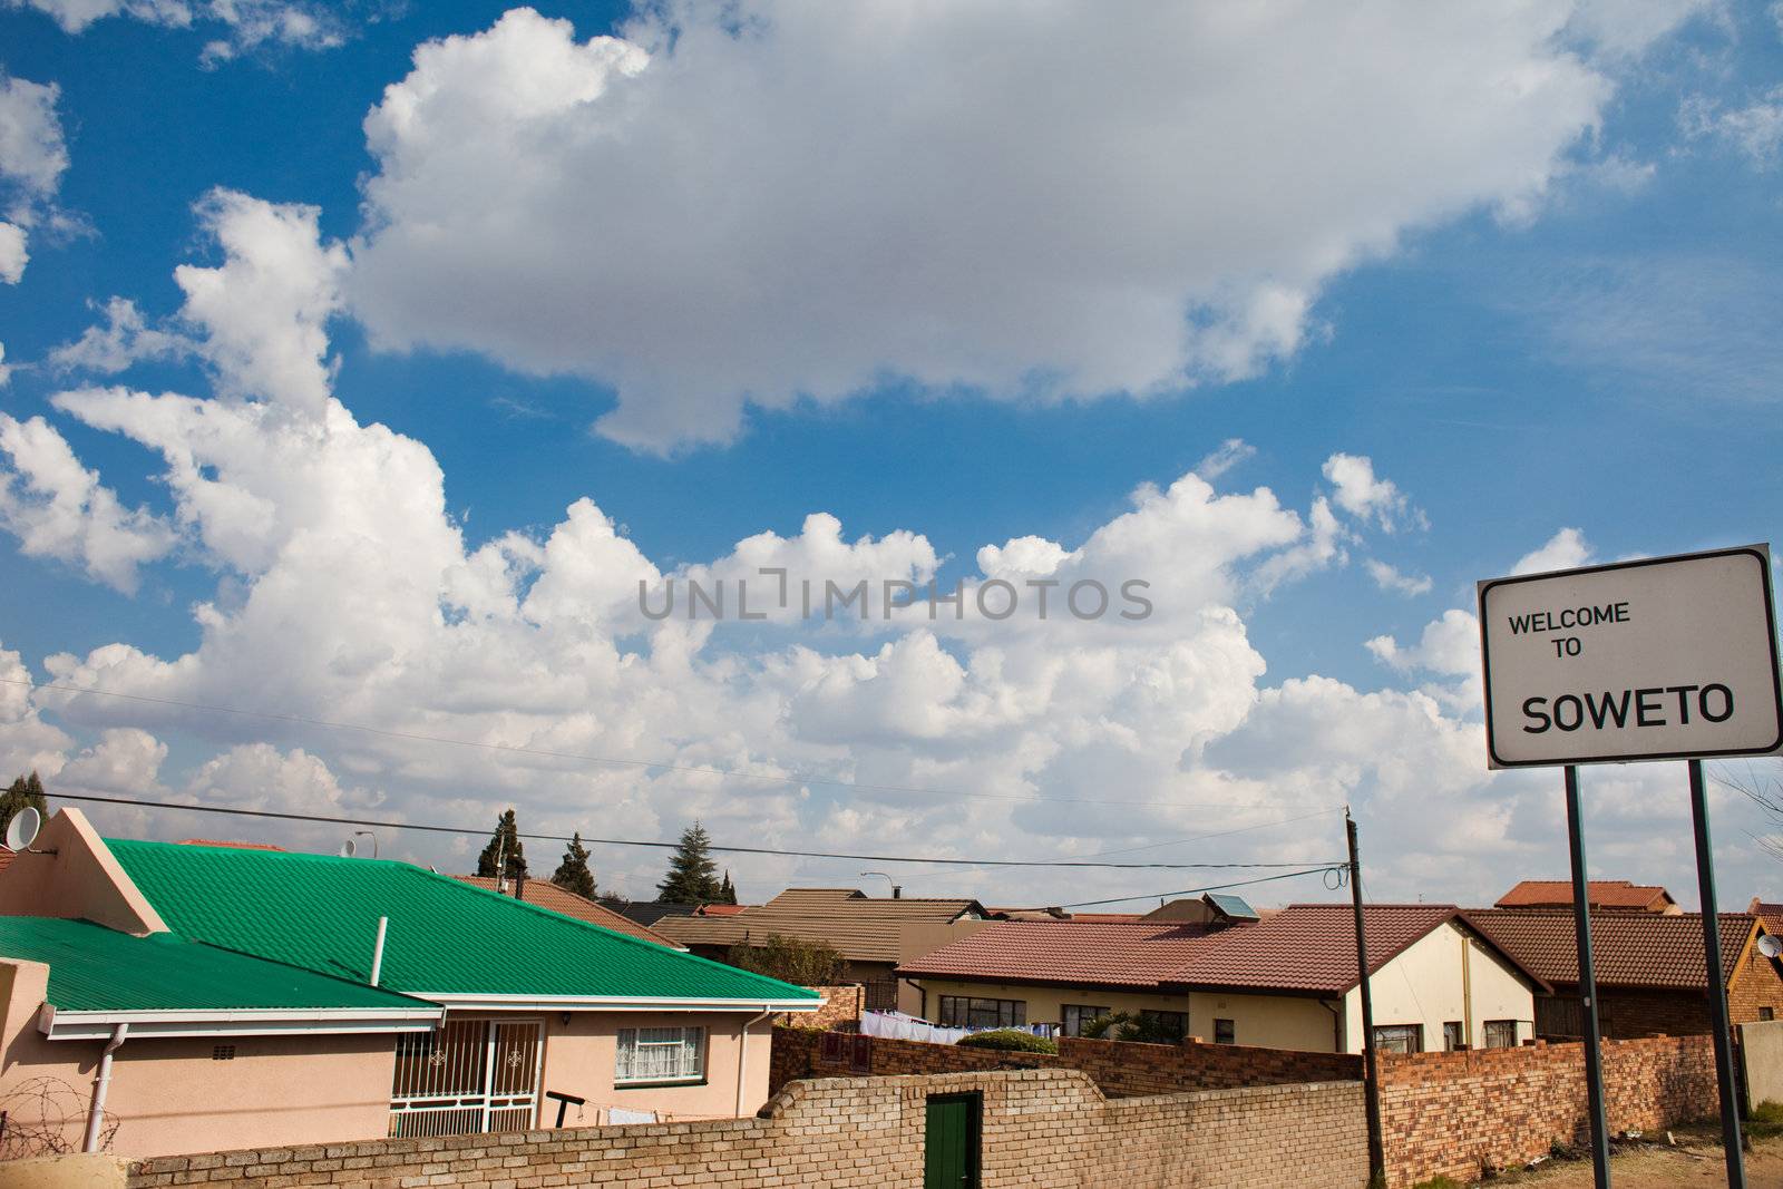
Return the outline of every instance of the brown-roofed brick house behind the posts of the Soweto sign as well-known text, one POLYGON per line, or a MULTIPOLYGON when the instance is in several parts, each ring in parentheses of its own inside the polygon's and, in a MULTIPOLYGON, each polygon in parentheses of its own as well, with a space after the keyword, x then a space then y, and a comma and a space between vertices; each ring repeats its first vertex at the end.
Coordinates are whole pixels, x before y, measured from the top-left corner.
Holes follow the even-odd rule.
MULTIPOLYGON (((1573 911, 1480 909, 1469 916, 1549 984, 1535 1000, 1537 1036, 1583 1034, 1573 911)), ((1783 966, 1758 952, 1767 932, 1751 913, 1721 914, 1721 968, 1735 1023, 1783 1014, 1783 966)), ((1598 1029, 1606 1039, 1712 1030, 1701 913, 1594 913, 1590 952, 1598 1029)))

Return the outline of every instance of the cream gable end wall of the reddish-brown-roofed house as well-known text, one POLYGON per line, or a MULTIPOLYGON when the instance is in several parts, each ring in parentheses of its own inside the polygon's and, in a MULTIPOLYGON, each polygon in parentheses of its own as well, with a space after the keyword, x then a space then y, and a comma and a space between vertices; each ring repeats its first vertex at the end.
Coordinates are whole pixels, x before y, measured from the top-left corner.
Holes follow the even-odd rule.
MULTIPOLYGON (((1496 954, 1448 923, 1375 972, 1375 1027, 1417 1023, 1425 1050, 1442 1048, 1442 1025, 1458 1020, 1467 1043, 1485 1048, 1487 1020, 1516 1020, 1517 1043, 1535 1036, 1535 995, 1496 954), (1462 980, 1466 968, 1467 979, 1462 980)), ((1348 1052, 1362 1052, 1362 995, 1344 996, 1348 1052)))

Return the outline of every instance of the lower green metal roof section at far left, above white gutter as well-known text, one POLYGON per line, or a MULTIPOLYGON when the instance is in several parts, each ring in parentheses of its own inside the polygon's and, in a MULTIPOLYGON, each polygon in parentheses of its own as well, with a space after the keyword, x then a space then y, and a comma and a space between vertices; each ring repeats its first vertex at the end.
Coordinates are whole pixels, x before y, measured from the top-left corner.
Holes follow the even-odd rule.
POLYGON ((362 982, 157 932, 134 938, 84 920, 0 916, 0 955, 50 964, 57 1011, 385 1009, 430 1004, 362 982))

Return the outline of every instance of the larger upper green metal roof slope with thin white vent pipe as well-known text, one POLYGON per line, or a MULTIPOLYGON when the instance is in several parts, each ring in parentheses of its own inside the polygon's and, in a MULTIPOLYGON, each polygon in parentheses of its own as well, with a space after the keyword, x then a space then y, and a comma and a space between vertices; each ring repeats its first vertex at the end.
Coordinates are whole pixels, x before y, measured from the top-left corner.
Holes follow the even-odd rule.
POLYGON ((175 932, 408 995, 815 1000, 817 991, 390 859, 107 840, 175 932))

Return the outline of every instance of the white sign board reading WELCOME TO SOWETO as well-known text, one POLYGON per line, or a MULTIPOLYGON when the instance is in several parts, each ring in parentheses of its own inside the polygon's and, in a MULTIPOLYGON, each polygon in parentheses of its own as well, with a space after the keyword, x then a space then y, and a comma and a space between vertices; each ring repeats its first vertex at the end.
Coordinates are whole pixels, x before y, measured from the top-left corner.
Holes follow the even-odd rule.
POLYGON ((1771 547, 1480 583, 1494 768, 1783 747, 1771 547))

